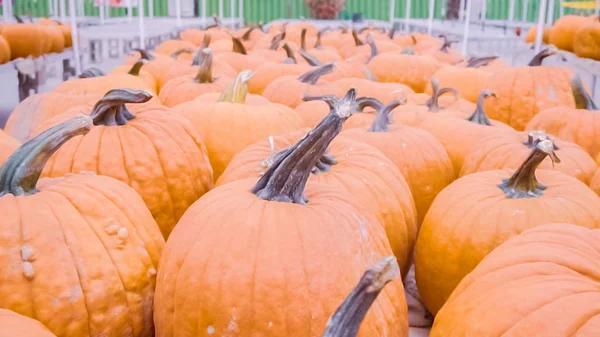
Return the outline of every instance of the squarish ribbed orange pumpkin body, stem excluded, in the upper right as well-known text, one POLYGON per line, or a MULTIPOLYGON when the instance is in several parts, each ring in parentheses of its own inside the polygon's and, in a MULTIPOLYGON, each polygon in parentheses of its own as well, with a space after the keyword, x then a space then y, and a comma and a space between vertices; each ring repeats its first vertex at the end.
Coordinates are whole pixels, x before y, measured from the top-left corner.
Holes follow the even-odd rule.
POLYGON ((497 121, 523 131, 540 111, 575 107, 571 92, 571 71, 562 67, 515 67, 494 72, 485 89, 497 99, 485 101, 485 112, 497 121))

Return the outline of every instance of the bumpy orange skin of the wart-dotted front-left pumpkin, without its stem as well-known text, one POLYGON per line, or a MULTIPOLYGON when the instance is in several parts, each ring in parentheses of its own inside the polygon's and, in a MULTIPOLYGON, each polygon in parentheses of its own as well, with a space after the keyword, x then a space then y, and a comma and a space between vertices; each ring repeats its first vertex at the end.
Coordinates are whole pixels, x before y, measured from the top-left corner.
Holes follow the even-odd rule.
POLYGON ((142 199, 93 174, 37 186, 0 197, 0 307, 57 336, 153 336, 164 240, 142 199))

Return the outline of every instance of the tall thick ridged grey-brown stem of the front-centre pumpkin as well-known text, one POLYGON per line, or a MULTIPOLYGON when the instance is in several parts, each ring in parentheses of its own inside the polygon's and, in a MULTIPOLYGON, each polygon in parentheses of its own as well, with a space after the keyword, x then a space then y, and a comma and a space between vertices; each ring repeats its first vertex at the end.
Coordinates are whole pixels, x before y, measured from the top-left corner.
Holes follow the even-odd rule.
POLYGON ((306 204, 304 187, 329 143, 357 109, 356 91, 350 89, 341 99, 327 99, 329 114, 304 138, 275 158, 273 165, 252 188, 261 199, 306 204))

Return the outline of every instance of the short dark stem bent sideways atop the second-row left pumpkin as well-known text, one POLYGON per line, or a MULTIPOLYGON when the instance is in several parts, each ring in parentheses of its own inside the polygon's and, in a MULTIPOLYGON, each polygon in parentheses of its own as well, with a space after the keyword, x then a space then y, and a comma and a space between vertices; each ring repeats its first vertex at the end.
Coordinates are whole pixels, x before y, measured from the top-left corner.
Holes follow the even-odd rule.
POLYGON ((94 120, 94 125, 125 125, 127 121, 135 118, 125 104, 146 103, 151 98, 152 93, 146 90, 113 89, 94 105, 90 116, 94 120))

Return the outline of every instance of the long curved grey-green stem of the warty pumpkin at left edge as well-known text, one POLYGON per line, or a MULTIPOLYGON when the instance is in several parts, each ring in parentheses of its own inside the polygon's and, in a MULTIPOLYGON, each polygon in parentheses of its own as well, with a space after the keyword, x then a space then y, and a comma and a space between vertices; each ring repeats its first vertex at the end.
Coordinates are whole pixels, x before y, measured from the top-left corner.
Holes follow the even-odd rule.
POLYGON ((79 115, 51 127, 21 145, 0 168, 0 196, 31 195, 46 162, 69 139, 86 134, 92 128, 88 115, 79 115))

